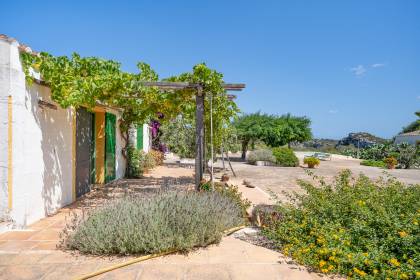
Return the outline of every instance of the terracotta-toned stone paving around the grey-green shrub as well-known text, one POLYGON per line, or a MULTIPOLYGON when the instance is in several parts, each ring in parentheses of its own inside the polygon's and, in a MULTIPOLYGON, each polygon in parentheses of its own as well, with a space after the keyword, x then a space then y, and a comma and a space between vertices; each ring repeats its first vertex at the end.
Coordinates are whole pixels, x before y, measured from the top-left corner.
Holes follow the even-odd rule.
MULTIPOLYGON (((122 181, 122 187, 93 192, 56 215, 42 219, 26 230, 0 235, 0 279, 76 279, 87 273, 129 260, 130 257, 99 258, 72 255, 56 249, 59 232, 70 212, 81 206, 95 207, 128 191, 170 185, 190 187, 192 169, 176 166, 158 167, 148 178, 122 181), (142 187, 139 187, 141 185, 142 187), (96 197, 95 197, 96 195, 96 197)), ((240 182, 236 182, 240 183, 240 182)), ((240 186, 243 194, 256 203, 266 203, 269 196, 261 189, 240 186)), ((281 254, 250 243, 225 237, 219 245, 197 249, 187 256, 168 255, 134 264, 93 279, 321 279, 305 268, 287 264, 281 254)))

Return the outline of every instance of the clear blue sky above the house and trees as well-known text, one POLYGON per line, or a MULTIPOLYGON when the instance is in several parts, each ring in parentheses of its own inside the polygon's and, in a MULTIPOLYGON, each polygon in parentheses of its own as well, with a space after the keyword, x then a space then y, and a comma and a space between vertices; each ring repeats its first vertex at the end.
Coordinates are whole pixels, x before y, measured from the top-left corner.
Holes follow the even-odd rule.
POLYGON ((247 88, 244 112, 312 119, 315 137, 392 137, 420 109, 420 1, 2 1, 0 33, 54 55, 199 62, 247 88))

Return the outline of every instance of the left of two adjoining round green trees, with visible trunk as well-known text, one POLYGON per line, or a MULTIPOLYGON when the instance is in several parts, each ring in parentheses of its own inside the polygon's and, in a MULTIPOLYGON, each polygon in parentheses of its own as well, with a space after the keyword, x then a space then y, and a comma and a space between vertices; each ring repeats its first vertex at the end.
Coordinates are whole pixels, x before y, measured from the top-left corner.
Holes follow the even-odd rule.
POLYGON ((273 123, 272 119, 272 116, 257 112, 244 114, 233 122, 242 144, 242 159, 245 159, 248 146, 252 141, 266 138, 268 127, 273 123))

